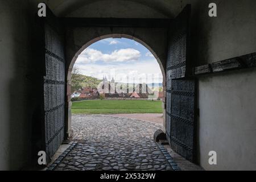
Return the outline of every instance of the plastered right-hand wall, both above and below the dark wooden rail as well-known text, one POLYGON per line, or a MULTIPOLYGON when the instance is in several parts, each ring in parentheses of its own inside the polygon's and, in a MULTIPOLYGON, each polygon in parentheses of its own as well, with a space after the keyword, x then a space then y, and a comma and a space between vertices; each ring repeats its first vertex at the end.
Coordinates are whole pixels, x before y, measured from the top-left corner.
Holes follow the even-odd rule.
MULTIPOLYGON (((198 19, 198 63, 256 52, 255 1, 215 1, 217 18, 198 19)), ((213 1, 214 2, 214 1, 213 1)), ((256 69, 199 78, 199 152, 205 169, 256 169, 256 69), (217 152, 217 165, 208 152, 217 152)))

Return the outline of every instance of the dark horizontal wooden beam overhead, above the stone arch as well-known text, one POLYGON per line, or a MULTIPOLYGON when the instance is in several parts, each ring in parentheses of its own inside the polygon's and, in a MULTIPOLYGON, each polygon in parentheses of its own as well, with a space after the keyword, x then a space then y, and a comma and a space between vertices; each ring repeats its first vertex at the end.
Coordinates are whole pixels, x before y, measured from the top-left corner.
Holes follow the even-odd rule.
POLYGON ((168 28, 172 19, 155 18, 60 18, 68 27, 168 28))

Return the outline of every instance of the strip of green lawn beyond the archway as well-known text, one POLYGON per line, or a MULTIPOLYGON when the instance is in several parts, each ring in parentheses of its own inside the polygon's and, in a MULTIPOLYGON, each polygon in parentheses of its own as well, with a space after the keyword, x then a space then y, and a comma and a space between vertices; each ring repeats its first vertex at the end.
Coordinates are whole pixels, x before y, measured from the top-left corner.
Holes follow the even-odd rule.
POLYGON ((162 101, 90 100, 72 103, 72 114, 163 113, 162 101))

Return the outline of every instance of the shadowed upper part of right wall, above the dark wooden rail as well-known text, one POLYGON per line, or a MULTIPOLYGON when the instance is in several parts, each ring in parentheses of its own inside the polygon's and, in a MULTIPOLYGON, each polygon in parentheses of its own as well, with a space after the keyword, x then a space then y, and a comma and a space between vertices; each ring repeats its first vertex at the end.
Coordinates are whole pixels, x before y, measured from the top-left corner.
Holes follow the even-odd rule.
POLYGON ((256 51, 254 0, 207 0, 200 1, 194 8, 196 12, 192 12, 192 20, 196 20, 197 65, 256 51), (208 16, 210 2, 217 4, 217 17, 208 16))

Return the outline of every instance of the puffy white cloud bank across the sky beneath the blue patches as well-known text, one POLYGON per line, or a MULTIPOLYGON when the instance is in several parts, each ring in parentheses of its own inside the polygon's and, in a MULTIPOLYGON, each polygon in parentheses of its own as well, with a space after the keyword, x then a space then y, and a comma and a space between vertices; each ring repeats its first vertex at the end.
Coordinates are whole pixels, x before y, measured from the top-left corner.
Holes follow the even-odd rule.
POLYGON ((77 57, 77 64, 95 63, 97 61, 105 62, 123 62, 123 61, 137 61, 141 57, 141 52, 133 48, 115 50, 110 54, 102 53, 96 49, 86 48, 77 57))

